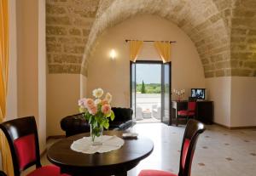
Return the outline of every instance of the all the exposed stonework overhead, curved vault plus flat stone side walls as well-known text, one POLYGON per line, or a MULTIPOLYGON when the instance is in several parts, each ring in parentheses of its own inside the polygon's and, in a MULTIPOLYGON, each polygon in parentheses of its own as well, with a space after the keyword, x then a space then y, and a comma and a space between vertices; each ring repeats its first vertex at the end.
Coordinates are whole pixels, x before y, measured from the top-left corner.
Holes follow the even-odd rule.
POLYGON ((205 77, 256 76, 254 0, 47 0, 46 8, 49 73, 86 75, 103 31, 155 14, 195 43, 205 77))

